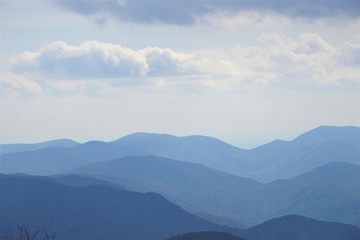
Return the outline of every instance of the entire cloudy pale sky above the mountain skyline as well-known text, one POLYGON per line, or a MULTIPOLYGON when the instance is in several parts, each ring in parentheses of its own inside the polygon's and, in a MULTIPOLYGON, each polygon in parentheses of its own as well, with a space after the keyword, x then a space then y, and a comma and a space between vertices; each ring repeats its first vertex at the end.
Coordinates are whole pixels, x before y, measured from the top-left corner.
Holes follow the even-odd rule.
POLYGON ((0 0, 0 142, 360 125, 360 0, 0 0))

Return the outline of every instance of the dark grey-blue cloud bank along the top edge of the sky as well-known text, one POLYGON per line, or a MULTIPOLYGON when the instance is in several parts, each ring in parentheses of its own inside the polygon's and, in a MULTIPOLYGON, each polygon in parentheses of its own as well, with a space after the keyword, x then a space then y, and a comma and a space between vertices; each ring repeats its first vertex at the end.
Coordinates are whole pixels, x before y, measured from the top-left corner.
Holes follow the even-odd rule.
POLYGON ((359 0, 54 0, 64 9, 84 16, 107 16, 121 22, 191 25, 203 16, 241 12, 274 13, 290 18, 359 17, 359 0))

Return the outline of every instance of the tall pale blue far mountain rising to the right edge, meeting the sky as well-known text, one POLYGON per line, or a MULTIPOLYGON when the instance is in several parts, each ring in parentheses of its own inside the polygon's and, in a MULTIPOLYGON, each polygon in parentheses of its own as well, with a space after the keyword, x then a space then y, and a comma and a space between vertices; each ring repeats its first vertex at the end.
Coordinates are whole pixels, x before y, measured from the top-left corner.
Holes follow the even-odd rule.
POLYGON ((259 181, 291 178, 330 162, 360 164, 360 128, 315 128, 292 141, 277 140, 253 151, 267 159, 247 177, 259 181))

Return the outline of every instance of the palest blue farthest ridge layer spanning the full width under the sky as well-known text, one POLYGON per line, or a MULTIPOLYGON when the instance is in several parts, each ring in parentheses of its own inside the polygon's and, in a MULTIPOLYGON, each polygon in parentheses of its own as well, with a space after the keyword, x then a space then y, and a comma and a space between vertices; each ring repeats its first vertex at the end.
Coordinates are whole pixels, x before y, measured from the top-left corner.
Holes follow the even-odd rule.
POLYGON ((270 182, 295 177, 330 162, 359 164, 359 136, 358 127, 319 127, 292 141, 277 140, 252 150, 204 136, 175 137, 149 133, 132 134, 108 143, 64 144, 63 140, 34 146, 8 144, 0 146, 3 153, 0 171, 58 174, 87 163, 124 156, 157 155, 270 182), (39 149, 39 146, 47 148, 39 149))

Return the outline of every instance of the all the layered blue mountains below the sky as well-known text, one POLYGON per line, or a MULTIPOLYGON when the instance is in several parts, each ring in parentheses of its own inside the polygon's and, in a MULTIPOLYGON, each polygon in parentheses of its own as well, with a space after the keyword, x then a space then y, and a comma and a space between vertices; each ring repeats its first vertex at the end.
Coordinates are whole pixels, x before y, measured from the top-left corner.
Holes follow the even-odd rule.
POLYGON ((236 227, 269 220, 237 234, 247 240, 359 239, 358 228, 313 220, 360 226, 359 138, 359 127, 324 126, 252 150, 150 133, 1 145, 0 172, 17 174, 0 175, 0 233, 22 224, 45 226, 61 239, 233 231, 201 217, 236 227))

